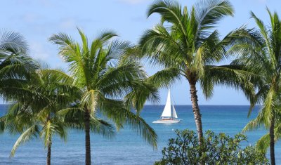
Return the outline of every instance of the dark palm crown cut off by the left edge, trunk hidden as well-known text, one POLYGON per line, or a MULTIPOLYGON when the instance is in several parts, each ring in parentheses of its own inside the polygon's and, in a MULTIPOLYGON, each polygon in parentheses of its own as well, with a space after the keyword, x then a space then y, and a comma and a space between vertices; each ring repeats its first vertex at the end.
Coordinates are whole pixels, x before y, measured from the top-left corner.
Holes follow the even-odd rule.
POLYGON ((24 93, 21 87, 28 84, 38 68, 27 52, 22 35, 0 32, 0 97, 5 100, 19 98, 24 93))

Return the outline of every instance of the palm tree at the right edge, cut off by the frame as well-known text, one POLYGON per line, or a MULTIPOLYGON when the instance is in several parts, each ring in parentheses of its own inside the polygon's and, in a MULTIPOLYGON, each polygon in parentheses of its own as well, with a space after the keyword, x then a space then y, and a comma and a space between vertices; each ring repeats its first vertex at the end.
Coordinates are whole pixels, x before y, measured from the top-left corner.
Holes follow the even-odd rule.
POLYGON ((263 106, 256 119, 250 121, 243 131, 251 131, 261 125, 269 128, 268 135, 261 138, 258 145, 268 146, 262 142, 269 140, 271 164, 275 164, 274 144, 275 140, 280 138, 281 20, 277 13, 271 13, 268 9, 267 11, 270 26, 266 27, 262 20, 251 12, 251 18, 254 18, 259 29, 241 29, 238 37, 240 41, 231 49, 241 55, 233 65, 243 66, 244 70, 259 77, 259 81, 253 81, 258 91, 251 99, 251 109, 259 103, 263 106))

